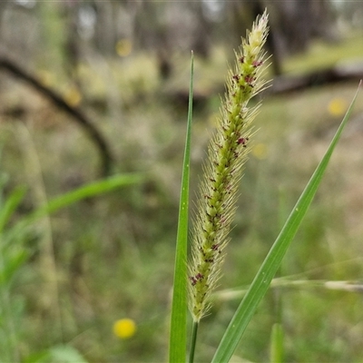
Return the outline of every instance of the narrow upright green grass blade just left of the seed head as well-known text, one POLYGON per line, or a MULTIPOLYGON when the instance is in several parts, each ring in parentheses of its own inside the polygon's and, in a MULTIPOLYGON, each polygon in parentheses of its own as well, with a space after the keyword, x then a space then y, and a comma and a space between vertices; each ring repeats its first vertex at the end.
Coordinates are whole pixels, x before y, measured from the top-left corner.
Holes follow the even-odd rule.
POLYGON ((188 211, 189 211, 189 174, 191 160, 191 120, 192 120, 192 84, 193 54, 191 54, 191 83, 189 90, 188 123, 185 140, 184 160, 182 165, 182 188, 179 205, 179 220, 176 240, 174 285, 172 290, 172 316, 169 340, 169 361, 185 362, 187 343, 187 247, 188 247, 188 211))

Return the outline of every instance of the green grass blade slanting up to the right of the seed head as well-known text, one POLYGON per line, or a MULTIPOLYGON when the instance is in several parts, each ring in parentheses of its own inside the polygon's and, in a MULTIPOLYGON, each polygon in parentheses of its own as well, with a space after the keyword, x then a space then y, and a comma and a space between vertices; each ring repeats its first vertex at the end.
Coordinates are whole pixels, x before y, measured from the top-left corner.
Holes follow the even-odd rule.
MULTIPOLYGON (((359 87, 360 84, 361 82, 359 83, 359 87)), ((334 135, 333 140, 330 142, 327 152, 319 162, 317 169, 311 176, 307 186, 300 195, 299 201, 296 203, 295 207, 289 214, 289 218, 280 231, 277 240, 275 240, 268 256, 263 261, 260 270, 257 272, 254 280, 252 281, 250 289, 248 290, 244 299, 242 299, 240 302, 240 306, 231 319, 231 323, 225 331, 223 338, 221 339, 220 346, 217 348, 212 362, 228 362, 231 359, 235 348, 237 348, 240 338, 242 337, 250 322, 250 319, 256 311, 260 300, 264 297, 266 291, 269 289, 270 282, 273 279, 276 271, 279 269, 281 260, 288 250, 289 244, 298 231, 299 224, 308 211, 309 205, 316 191, 318 190, 319 183, 321 182, 322 176, 327 169, 330 156, 338 143, 341 132, 348 122, 348 118, 352 111, 353 104, 356 101, 357 95, 358 91, 355 94, 352 103, 350 103, 348 112, 338 127, 338 131, 334 135)))

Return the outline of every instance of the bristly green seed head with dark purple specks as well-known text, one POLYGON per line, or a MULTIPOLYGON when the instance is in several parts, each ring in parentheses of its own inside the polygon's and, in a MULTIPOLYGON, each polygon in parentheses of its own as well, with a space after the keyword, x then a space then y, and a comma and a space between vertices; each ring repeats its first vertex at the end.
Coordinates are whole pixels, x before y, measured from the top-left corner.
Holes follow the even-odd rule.
POLYGON ((266 84, 260 80, 260 74, 265 68, 263 44, 267 25, 265 11, 235 53, 235 69, 227 79, 221 117, 203 167, 188 263, 189 306, 194 321, 208 312, 211 292, 221 276, 223 250, 229 241, 242 166, 250 152, 250 123, 259 108, 259 104, 251 107, 249 102, 266 84))

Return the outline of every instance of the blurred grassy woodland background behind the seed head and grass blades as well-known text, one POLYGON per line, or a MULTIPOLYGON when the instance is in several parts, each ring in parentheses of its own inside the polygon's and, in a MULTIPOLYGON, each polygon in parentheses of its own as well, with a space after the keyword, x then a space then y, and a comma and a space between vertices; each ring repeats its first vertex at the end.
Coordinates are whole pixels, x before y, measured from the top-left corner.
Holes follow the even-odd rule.
MULTIPOLYGON (((25 186, 26 194, 2 226, 0 361, 70 361, 42 355, 59 346, 94 363, 166 361, 191 50, 194 199, 233 48, 267 6, 267 51, 274 62, 267 77, 275 81, 262 95, 220 292, 245 289, 357 89, 362 5, 1 2, 3 212, 16 187, 25 186), (104 175, 83 127, 9 72, 5 60, 86 115, 112 152, 110 175, 140 172, 144 180, 74 203, 7 240, 16 221, 44 202, 104 175), (339 82, 318 77, 299 89, 275 87, 329 67, 342 70, 339 82), (17 260, 15 251, 22 251, 17 260), (131 337, 114 333, 119 319, 134 321, 131 337)), ((363 361, 362 145, 360 94, 280 271, 300 283, 270 290, 234 361, 269 361, 276 321, 283 325, 286 361, 363 361), (354 281, 358 288, 326 281, 354 281)), ((238 304, 238 298, 216 295, 201 324, 197 361, 211 359, 238 304)))

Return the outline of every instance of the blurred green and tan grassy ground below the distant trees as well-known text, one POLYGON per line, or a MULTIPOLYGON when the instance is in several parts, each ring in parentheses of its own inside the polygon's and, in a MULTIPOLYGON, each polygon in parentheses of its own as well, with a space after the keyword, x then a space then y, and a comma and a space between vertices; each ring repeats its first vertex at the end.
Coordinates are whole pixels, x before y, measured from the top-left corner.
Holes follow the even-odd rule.
MULTIPOLYGON (((304 64, 314 68, 329 64, 327 59, 358 56, 362 46, 351 40, 315 44, 311 54, 294 57, 285 67, 303 72, 304 64)), ((83 106, 112 146, 114 172, 146 172, 146 181, 46 216, 13 241, 27 256, 11 281, 2 282, 7 309, 1 311, 0 334, 10 343, 0 343, 0 356, 6 352, 26 361, 45 348, 67 344, 94 363, 166 360, 186 123, 186 107, 172 103, 170 94, 187 87, 189 60, 182 59, 178 75, 167 83, 158 79, 147 54, 110 64, 107 69, 81 67, 83 106), (133 319, 137 327, 128 339, 113 334, 113 323, 123 318, 133 319)), ((193 190, 218 113, 215 91, 226 69, 220 49, 210 63, 196 62, 195 89, 208 101, 194 114, 193 190)), ((51 76, 54 87, 69 90, 69 84, 51 76)), ((67 116, 24 85, 7 83, 0 124, 3 205, 16 185, 27 186, 14 223, 44 201, 93 181, 98 159, 67 116), (22 106, 25 114, 21 120, 9 116, 5 106, 22 106)), ((197 361, 211 359, 238 297, 328 147, 357 86, 341 83, 264 101, 220 291, 211 316, 201 324, 197 361)), ((362 113, 358 101, 280 280, 252 320, 234 361, 268 361, 271 327, 277 321, 284 327, 286 361, 363 360, 360 292, 331 282, 358 283, 363 273, 362 113)), ((3 264, 6 253, 3 249, 3 264)))

